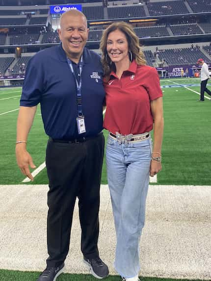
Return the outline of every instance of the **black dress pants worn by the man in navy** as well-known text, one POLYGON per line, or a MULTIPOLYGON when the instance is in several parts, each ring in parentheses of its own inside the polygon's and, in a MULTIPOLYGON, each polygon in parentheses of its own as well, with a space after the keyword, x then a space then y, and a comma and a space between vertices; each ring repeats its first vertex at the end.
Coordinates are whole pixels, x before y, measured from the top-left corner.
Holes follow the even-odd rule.
POLYGON ((49 178, 47 219, 47 265, 56 267, 66 258, 76 198, 79 198, 81 252, 99 255, 100 183, 104 135, 79 143, 48 141, 46 167, 49 178))

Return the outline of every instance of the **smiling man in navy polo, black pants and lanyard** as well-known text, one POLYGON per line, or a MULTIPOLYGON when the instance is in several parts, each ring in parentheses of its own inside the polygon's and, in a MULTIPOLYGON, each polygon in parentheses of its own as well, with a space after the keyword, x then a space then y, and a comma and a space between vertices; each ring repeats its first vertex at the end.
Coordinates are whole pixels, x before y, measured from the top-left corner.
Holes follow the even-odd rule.
POLYGON ((70 10, 61 16, 60 46, 38 52, 28 63, 17 122, 16 157, 24 175, 35 168, 26 150, 37 104, 49 141, 47 267, 38 281, 55 281, 69 251, 73 210, 79 198, 81 251, 96 278, 108 275, 98 252, 100 181, 104 155, 103 70, 100 56, 85 48, 85 16, 70 10))

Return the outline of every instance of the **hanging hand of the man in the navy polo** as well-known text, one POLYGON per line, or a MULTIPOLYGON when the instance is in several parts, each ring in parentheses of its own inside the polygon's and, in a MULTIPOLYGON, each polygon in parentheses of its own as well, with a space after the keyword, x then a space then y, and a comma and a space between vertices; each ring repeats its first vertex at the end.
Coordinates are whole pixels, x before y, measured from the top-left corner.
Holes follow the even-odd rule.
POLYGON ((33 176, 30 173, 29 166, 34 169, 36 166, 33 163, 31 155, 26 150, 26 144, 20 143, 16 145, 16 160, 21 172, 33 181, 33 176))

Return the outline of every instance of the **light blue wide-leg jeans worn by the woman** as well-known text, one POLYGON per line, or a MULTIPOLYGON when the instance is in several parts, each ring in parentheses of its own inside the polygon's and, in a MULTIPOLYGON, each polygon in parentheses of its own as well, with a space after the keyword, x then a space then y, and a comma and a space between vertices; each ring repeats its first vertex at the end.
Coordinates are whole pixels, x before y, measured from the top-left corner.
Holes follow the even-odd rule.
POLYGON ((116 230, 115 270, 125 278, 138 274, 139 241, 145 222, 152 140, 118 144, 108 136, 107 179, 116 230))

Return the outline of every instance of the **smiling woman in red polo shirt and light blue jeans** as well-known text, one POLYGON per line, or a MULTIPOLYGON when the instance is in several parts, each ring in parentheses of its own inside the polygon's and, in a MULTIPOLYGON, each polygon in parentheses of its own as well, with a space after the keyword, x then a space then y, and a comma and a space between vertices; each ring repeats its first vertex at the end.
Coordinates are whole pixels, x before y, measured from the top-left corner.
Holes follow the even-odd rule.
POLYGON ((162 91, 157 70, 146 65, 129 24, 108 26, 100 48, 106 90, 104 128, 109 131, 107 178, 117 237, 114 267, 124 281, 138 281, 138 244, 149 176, 161 170, 162 91))

